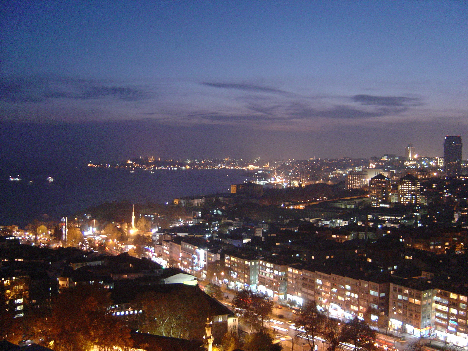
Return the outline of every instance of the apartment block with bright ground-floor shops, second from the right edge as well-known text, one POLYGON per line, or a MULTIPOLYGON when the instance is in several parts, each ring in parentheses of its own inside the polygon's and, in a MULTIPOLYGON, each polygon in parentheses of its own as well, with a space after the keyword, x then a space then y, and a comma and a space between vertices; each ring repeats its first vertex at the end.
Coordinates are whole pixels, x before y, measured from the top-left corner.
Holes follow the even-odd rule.
MULTIPOLYGON (((390 283, 389 327, 415 336, 434 331, 436 289, 419 278, 394 278, 390 283)), ((440 305, 441 306, 441 305, 440 305)))

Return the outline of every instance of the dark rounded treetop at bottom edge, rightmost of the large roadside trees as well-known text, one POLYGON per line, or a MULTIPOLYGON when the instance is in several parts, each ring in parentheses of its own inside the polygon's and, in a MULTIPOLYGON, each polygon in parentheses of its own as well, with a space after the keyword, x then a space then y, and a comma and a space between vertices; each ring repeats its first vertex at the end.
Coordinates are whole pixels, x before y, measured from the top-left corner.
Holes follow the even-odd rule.
POLYGON ((354 351, 372 351, 375 349, 375 332, 366 322, 355 317, 344 324, 340 341, 353 344, 354 351))

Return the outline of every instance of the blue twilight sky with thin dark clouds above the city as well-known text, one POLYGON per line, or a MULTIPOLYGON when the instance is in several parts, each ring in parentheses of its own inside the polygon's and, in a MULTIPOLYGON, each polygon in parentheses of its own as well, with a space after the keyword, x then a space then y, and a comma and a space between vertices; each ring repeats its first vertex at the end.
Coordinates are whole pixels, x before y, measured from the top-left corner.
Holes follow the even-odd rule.
MULTIPOLYGON (((468 145, 467 1, 2 1, 0 147, 442 155, 468 145)), ((466 159, 467 148, 463 158, 466 159)))

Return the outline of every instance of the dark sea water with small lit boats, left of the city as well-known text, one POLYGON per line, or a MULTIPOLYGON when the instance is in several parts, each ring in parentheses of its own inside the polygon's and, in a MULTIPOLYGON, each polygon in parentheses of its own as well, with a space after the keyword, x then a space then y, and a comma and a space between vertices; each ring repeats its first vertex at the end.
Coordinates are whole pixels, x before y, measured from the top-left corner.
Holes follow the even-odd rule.
POLYGON ((156 170, 65 167, 0 170, 0 225, 24 227, 35 218, 60 219, 105 201, 171 203, 175 197, 226 193, 246 180, 234 169, 156 170), (8 173, 6 173, 8 172, 8 173), (20 182, 8 180, 19 174, 20 182), (54 178, 52 183, 47 177, 54 178), (28 184, 28 181, 31 181, 28 184))

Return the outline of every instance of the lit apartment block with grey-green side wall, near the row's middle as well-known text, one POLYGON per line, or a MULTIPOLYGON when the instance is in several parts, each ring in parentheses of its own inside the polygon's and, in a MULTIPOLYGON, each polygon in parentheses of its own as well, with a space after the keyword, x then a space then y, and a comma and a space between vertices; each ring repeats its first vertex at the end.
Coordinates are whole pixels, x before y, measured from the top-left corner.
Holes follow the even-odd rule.
POLYGON ((256 255, 229 251, 224 255, 224 265, 230 271, 225 277, 227 285, 236 289, 256 290, 259 259, 256 255))

